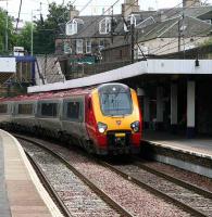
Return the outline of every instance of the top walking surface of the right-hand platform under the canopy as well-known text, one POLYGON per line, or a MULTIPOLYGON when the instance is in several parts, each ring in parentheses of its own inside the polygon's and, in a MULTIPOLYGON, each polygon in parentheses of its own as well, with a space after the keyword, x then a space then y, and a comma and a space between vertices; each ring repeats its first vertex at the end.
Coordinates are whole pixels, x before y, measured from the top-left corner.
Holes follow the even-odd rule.
POLYGON ((212 137, 187 139, 169 132, 145 131, 144 140, 155 145, 212 159, 212 137))

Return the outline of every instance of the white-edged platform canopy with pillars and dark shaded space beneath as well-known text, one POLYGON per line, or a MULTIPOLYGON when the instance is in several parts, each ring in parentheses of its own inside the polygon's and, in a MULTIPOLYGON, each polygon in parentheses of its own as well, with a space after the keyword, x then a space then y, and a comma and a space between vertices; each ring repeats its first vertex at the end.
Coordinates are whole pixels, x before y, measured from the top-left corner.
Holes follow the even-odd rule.
POLYGON ((211 60, 147 60, 110 72, 28 88, 64 90, 120 81, 137 89, 145 128, 212 136, 211 60))

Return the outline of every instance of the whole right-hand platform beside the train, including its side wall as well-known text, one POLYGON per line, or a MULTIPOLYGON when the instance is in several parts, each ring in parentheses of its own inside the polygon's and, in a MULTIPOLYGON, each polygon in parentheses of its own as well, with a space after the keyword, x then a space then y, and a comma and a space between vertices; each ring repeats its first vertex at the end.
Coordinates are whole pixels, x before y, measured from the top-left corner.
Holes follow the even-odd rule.
POLYGON ((142 156, 212 178, 212 138, 145 131, 142 156))

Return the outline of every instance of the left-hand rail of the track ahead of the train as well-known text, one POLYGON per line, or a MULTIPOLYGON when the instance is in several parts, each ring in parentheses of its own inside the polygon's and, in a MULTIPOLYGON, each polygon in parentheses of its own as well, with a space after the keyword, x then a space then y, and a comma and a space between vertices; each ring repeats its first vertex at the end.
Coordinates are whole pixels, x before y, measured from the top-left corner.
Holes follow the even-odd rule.
POLYGON ((148 190, 149 192, 153 193, 157 196, 160 196, 162 199, 164 199, 166 202, 172 202, 174 205, 178 206, 179 208, 184 209, 185 212, 198 216, 198 217, 207 217, 205 214, 203 214, 200 210, 197 210, 192 207, 190 207, 189 205, 167 195, 166 193, 158 190, 157 188, 151 187, 150 184, 145 183, 144 181, 138 180, 137 178, 134 178, 125 173, 123 173, 121 169, 117 169, 115 166, 107 163, 107 162, 102 162, 99 161, 99 163, 104 166, 108 167, 109 169, 111 169, 112 171, 115 171, 117 175, 120 175, 121 177, 125 178, 128 181, 132 181, 133 183, 136 183, 137 186, 145 188, 146 190, 148 190))

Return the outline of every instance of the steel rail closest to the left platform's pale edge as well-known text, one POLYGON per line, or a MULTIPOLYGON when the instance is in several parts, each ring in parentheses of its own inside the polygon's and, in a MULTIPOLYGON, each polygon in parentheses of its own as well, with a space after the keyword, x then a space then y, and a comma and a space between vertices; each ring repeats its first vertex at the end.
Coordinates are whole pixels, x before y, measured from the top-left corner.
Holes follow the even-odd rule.
POLYGON ((49 182, 47 176, 40 168, 40 166, 34 161, 34 158, 25 151, 26 156, 28 157, 30 164, 33 165, 36 174, 40 178, 41 183, 43 184, 45 189, 49 192, 50 195, 53 195, 53 200, 55 201, 59 209, 65 217, 72 217, 71 213, 66 208, 65 204, 61 201, 55 190, 52 188, 51 183, 49 182))

